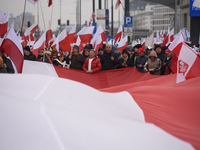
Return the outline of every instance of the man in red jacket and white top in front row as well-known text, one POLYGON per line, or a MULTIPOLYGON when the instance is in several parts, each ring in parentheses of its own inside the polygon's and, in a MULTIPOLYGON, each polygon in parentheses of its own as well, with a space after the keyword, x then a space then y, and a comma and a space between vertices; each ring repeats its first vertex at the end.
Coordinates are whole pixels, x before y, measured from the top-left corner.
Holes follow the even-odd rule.
POLYGON ((95 57, 95 51, 93 49, 89 52, 89 57, 83 64, 83 71, 86 73, 96 73, 101 70, 101 62, 98 57, 95 57))

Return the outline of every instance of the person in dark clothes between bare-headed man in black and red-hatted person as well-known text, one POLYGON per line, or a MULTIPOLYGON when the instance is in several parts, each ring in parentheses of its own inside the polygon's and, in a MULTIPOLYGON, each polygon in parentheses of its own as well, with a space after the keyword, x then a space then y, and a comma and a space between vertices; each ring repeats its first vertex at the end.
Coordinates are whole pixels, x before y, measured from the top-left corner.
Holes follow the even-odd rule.
POLYGON ((119 65, 117 68, 133 67, 133 62, 127 49, 123 49, 122 55, 119 57, 119 65))

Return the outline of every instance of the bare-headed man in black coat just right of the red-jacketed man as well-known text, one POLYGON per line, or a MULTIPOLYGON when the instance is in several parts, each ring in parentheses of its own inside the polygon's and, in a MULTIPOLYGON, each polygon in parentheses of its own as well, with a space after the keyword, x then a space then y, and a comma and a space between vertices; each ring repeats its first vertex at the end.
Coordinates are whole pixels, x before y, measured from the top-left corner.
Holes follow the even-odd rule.
POLYGON ((106 45, 106 51, 101 57, 102 70, 112 70, 115 69, 115 65, 118 64, 118 60, 115 59, 115 54, 112 50, 112 45, 106 45))

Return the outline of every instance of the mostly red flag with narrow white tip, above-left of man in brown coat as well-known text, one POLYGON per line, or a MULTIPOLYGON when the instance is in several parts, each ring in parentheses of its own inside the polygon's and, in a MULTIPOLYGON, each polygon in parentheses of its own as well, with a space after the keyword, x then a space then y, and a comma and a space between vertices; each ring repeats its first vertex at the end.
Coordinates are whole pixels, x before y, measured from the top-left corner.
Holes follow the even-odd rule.
POLYGON ((60 45, 64 52, 71 51, 71 44, 74 43, 75 32, 76 32, 76 24, 69 31, 62 45, 60 45))

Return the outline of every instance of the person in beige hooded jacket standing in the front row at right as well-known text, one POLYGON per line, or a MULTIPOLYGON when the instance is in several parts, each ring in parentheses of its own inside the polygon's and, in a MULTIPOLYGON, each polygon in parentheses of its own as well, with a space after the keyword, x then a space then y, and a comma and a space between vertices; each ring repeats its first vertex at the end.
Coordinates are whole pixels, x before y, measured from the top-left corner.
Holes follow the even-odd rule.
POLYGON ((160 75, 161 74, 160 69, 161 69, 161 61, 158 58, 156 52, 151 51, 149 59, 144 65, 144 71, 149 72, 150 74, 153 75, 160 75))

